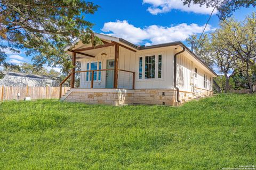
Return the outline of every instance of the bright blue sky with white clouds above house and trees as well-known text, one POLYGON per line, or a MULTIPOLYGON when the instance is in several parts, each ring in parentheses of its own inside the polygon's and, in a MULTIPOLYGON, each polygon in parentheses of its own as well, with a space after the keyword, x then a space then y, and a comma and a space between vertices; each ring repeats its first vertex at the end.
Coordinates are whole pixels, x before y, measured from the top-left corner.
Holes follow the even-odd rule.
MULTIPOLYGON (((123 38, 136 45, 154 45, 182 41, 186 44, 189 35, 200 35, 212 8, 198 5, 183 6, 181 0, 91 0, 99 5, 97 12, 85 15, 85 20, 94 23, 93 31, 123 38)), ((241 8, 233 16, 243 20, 254 8, 241 8)), ((219 19, 213 16, 205 33, 218 28, 219 19)), ((21 64, 31 62, 23 51, 12 53, 6 50, 7 62, 21 64)), ((45 66, 47 70, 51 67, 45 66)), ((54 70, 60 71, 55 67, 54 70)))

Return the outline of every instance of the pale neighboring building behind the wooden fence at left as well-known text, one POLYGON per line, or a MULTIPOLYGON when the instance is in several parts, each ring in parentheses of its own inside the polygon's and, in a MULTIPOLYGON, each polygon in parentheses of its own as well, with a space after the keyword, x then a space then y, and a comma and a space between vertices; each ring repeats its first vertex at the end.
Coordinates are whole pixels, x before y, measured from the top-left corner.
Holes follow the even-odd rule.
POLYGON ((3 71, 4 78, 0 79, 1 86, 29 86, 29 87, 56 87, 60 80, 46 75, 24 74, 3 71))

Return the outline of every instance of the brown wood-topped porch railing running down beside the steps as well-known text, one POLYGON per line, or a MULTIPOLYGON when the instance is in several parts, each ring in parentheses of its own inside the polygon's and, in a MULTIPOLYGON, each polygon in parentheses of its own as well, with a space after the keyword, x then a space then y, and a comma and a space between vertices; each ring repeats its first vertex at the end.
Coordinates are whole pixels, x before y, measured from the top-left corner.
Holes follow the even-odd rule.
MULTIPOLYGON (((114 71, 114 69, 102 69, 102 70, 86 70, 86 71, 75 71, 75 72, 73 72, 74 74, 77 74, 77 73, 87 73, 87 72, 90 72, 90 88, 94 88, 94 86, 93 86, 93 83, 94 83, 94 73, 95 72, 103 72, 103 71, 114 71)), ((134 89, 134 87, 135 87, 135 72, 133 72, 133 71, 129 71, 129 70, 123 70, 123 69, 118 69, 118 72, 124 72, 124 73, 129 73, 129 74, 131 74, 131 75, 129 75, 129 78, 128 79, 130 79, 130 77, 131 77, 131 79, 132 79, 132 89, 134 89)), ((70 78, 71 77, 71 75, 72 75, 72 73, 70 73, 61 83, 60 83, 60 98, 62 97, 62 93, 61 93, 61 89, 62 89, 62 85, 68 80, 68 78, 70 78)), ((102 77, 102 75, 103 74, 101 74, 101 77, 102 77)), ((119 81, 117 81, 119 84, 122 84, 120 81, 122 81, 122 82, 124 82, 125 80, 125 76, 127 77, 127 75, 125 75, 125 74, 119 74, 118 75, 118 79, 119 79, 119 81), (120 76, 119 76, 120 75, 120 76), (123 79, 123 80, 120 80, 120 79, 123 79)), ((102 79, 102 78, 101 78, 102 79)), ((127 79, 127 78, 126 78, 127 79)), ((89 82, 89 81, 88 81, 89 82)), ((126 83, 126 82, 124 82, 124 83, 126 83)), ((123 84, 124 84, 123 83, 123 84)), ((124 87, 124 86, 123 86, 124 87)), ((122 88, 122 89, 124 89, 124 88, 122 88)), ((127 89, 129 89, 129 88, 127 88, 127 89)), ((130 88, 131 89, 131 88, 130 88)))

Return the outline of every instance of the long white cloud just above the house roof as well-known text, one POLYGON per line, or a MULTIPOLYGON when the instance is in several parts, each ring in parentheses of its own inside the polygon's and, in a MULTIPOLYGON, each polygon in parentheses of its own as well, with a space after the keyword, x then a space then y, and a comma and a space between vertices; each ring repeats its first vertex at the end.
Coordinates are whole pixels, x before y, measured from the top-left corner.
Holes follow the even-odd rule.
MULTIPOLYGON (((123 38, 134 44, 146 43, 146 45, 169 43, 172 41, 184 41, 189 35, 201 33, 205 25, 199 26, 195 23, 181 23, 171 27, 150 25, 145 28, 134 27, 127 21, 107 22, 102 31, 109 32, 107 35, 123 38)), ((211 25, 207 25, 205 32, 213 31, 211 25)), ((106 34, 106 33, 105 33, 106 34)))

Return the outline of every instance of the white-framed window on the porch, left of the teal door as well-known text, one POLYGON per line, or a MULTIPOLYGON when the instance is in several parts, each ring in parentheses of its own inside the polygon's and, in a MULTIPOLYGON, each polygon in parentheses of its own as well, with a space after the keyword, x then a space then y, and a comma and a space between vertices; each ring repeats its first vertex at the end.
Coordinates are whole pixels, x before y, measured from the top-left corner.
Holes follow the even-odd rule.
MULTIPOLYGON (((101 61, 86 63, 86 70, 101 70, 101 61)), ((92 72, 86 72, 86 81, 92 80, 92 72)), ((93 81, 101 80, 101 71, 94 71, 93 81)))

